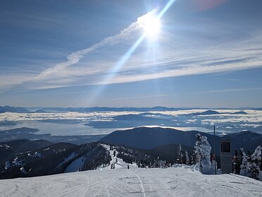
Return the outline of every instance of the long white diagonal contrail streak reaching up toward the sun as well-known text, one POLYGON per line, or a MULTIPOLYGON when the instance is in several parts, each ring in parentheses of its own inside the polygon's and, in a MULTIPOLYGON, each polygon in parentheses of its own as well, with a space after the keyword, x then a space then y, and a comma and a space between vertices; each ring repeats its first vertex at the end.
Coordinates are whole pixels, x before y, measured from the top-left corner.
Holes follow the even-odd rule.
POLYGON ((128 28, 121 30, 119 34, 113 35, 110 37, 106 37, 104 40, 101 40, 101 42, 98 42, 87 49, 82 49, 80 51, 69 54, 66 58, 67 59, 66 61, 56 64, 56 66, 52 68, 48 68, 45 71, 43 71, 42 73, 39 73, 35 77, 35 80, 42 80, 46 78, 47 76, 51 76, 52 74, 57 73, 58 71, 61 71, 63 68, 67 68, 68 66, 73 66, 74 64, 77 64, 80 61, 80 59, 82 59, 85 55, 94 52, 96 49, 99 49, 106 45, 116 44, 117 42, 120 42, 120 40, 125 39, 125 37, 130 35, 132 32, 139 30, 141 28, 139 21, 143 18, 146 18, 156 13, 156 10, 157 9, 154 9, 153 11, 150 11, 149 13, 146 13, 145 15, 140 16, 139 18, 137 18, 137 21, 135 23, 132 23, 128 28))

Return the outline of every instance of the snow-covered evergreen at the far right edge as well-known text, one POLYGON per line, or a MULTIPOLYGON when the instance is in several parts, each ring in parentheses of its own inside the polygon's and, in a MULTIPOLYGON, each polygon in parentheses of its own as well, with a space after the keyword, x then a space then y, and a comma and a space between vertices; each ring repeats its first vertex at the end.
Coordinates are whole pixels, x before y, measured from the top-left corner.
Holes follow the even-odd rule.
POLYGON ((258 145, 253 155, 251 155, 251 159, 249 162, 249 174, 250 177, 253 179, 258 179, 259 176, 259 171, 260 171, 259 163, 261 161, 261 151, 262 151, 262 147, 261 145, 258 145))

